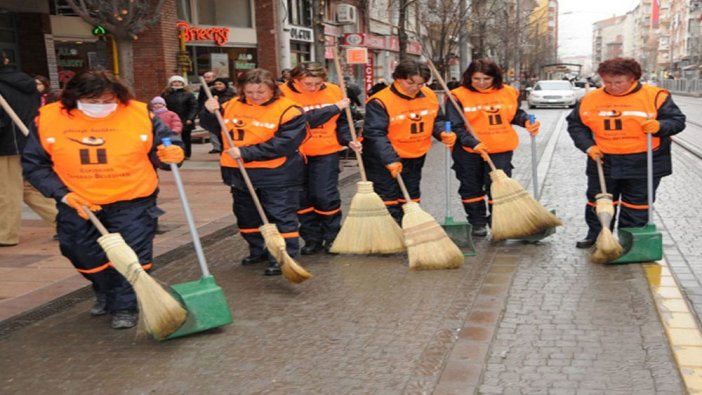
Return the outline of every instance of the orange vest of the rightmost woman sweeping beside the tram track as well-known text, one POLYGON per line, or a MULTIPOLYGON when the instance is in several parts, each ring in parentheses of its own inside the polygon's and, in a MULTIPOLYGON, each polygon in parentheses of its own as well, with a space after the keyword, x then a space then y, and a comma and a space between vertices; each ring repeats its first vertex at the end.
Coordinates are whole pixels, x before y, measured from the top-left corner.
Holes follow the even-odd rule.
MULTIPOLYGON (((646 133, 641 125, 656 119, 668 95, 668 91, 651 85, 642 85, 625 96, 609 95, 600 88, 583 97, 579 115, 605 154, 646 152, 646 133)), ((659 145, 660 138, 654 136, 653 148, 659 145)))

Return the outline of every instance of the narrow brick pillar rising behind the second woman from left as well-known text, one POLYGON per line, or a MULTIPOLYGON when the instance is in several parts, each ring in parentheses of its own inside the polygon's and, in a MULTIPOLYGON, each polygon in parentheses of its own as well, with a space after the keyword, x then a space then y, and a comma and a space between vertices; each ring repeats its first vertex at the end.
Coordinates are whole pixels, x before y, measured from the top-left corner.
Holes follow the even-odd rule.
POLYGON ((258 67, 264 68, 273 76, 280 75, 278 29, 278 3, 272 0, 255 1, 256 40, 258 41, 258 67))

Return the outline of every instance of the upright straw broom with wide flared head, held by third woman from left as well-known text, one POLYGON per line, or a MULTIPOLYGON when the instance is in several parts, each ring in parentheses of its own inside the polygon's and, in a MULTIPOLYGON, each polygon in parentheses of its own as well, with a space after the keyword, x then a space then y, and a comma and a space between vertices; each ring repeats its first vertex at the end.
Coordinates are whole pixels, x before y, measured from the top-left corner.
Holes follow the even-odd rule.
MULTIPOLYGON (((334 51, 334 66, 339 76, 339 86, 346 99, 346 87, 343 72, 339 64, 339 54, 334 51)), ((351 138, 358 141, 356 127, 353 124, 351 109, 346 107, 346 119, 351 129, 351 138)), ((354 151, 355 152, 355 151, 354 151)), ((361 154, 355 152, 361 181, 356 185, 358 191, 351 199, 351 206, 339 233, 332 243, 330 252, 337 254, 394 254, 405 250, 402 241, 402 229, 390 216, 383 200, 373 191, 373 183, 366 177, 361 154)))

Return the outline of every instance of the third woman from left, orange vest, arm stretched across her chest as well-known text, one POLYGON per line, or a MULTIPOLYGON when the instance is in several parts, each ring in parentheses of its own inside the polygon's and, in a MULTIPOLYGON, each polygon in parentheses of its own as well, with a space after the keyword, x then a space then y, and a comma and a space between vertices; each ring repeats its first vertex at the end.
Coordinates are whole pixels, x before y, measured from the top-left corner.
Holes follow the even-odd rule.
POLYGON ((280 86, 283 95, 300 105, 310 126, 309 138, 300 147, 305 155, 304 178, 300 195, 300 236, 305 241, 302 255, 329 252, 341 228, 339 194, 339 152, 345 146, 360 150, 351 141, 344 109, 349 100, 341 88, 327 82, 324 66, 317 62, 298 64, 291 80, 280 86))

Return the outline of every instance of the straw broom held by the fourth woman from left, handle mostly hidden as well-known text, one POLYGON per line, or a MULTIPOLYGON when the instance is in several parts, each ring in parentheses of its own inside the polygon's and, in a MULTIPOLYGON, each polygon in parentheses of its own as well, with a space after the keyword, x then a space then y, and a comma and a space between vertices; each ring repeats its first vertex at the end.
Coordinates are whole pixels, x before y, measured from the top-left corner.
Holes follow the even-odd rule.
POLYGON ((412 201, 402 175, 397 175, 402 195, 402 233, 405 236, 409 267, 412 270, 456 269, 463 265, 463 252, 438 222, 412 201))

